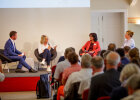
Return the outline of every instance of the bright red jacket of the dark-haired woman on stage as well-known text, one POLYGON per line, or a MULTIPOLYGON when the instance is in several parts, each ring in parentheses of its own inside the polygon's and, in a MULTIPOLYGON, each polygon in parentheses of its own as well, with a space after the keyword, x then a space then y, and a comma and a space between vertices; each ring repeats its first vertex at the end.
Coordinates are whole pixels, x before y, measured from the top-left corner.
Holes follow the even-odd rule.
MULTIPOLYGON (((91 41, 87 41, 86 44, 82 47, 82 51, 83 52, 85 50, 89 51, 90 44, 91 44, 91 41)), ((98 41, 94 42, 92 51, 94 51, 95 53, 93 54, 93 56, 96 56, 100 50, 101 50, 101 48, 100 48, 99 42, 98 41)))

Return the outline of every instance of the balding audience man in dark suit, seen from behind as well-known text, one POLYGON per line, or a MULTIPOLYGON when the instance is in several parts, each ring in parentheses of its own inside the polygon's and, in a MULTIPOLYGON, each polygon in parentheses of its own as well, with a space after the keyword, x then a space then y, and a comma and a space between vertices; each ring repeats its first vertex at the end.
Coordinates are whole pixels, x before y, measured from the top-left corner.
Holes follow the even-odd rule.
POLYGON ((121 85, 119 81, 120 73, 117 66, 120 63, 120 56, 111 52, 106 57, 107 71, 91 79, 91 86, 88 100, 97 100, 99 97, 110 96, 112 90, 121 85))

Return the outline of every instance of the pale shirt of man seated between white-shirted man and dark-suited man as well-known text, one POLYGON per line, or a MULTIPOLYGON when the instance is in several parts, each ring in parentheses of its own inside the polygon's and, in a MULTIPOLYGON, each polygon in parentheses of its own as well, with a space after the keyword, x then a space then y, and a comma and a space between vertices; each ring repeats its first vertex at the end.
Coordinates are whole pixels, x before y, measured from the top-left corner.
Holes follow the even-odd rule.
MULTIPOLYGON (((92 77, 95 77, 99 74, 103 74, 104 72, 96 72, 94 73, 94 75, 92 77)), ((80 86, 79 86, 79 90, 78 90, 78 94, 82 94, 84 92, 84 90, 89 89, 90 88, 90 84, 91 84, 91 78, 88 78, 86 80, 81 81, 80 86)))

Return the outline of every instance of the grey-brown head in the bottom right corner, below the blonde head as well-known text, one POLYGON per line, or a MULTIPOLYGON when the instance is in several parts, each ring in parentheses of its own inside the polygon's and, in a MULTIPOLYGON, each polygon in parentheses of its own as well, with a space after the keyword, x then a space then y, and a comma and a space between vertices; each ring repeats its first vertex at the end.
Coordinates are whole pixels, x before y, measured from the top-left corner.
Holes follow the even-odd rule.
MULTIPOLYGON (((126 86, 128 88, 128 94, 131 95, 137 90, 140 90, 140 74, 134 74, 132 75, 127 83, 126 86)), ((137 99, 139 100, 139 99, 137 99)))

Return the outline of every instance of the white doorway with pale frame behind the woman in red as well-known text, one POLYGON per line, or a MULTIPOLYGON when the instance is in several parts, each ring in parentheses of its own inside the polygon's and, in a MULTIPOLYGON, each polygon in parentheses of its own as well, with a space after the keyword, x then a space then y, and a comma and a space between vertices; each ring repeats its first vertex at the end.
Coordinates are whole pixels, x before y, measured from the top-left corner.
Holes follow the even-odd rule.
POLYGON ((91 13, 91 32, 98 35, 101 49, 107 49, 110 43, 122 47, 127 30, 127 11, 93 11, 91 13))

